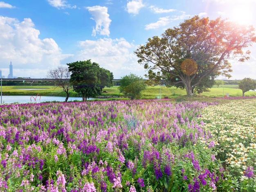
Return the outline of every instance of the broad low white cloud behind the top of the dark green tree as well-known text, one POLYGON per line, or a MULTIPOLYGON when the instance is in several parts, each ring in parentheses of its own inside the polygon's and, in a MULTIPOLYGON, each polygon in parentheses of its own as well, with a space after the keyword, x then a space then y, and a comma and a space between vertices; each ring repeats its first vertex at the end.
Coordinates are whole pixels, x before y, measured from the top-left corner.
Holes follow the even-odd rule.
POLYGON ((99 63, 101 67, 112 71, 115 78, 129 73, 141 76, 145 74, 143 66, 138 64, 137 57, 133 53, 137 47, 124 38, 85 40, 80 41, 79 46, 82 50, 76 59, 92 59, 92 62, 99 63))

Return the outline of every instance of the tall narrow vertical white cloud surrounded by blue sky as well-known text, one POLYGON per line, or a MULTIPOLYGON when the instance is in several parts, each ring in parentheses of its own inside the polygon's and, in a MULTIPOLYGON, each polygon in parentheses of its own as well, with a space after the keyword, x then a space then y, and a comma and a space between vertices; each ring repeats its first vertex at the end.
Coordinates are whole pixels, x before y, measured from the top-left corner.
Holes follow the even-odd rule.
POLYGON ((110 23, 111 19, 108 14, 108 7, 101 7, 99 5, 93 7, 86 7, 92 15, 92 20, 96 22, 96 26, 92 30, 92 36, 96 36, 97 33, 104 36, 110 35, 110 23))

